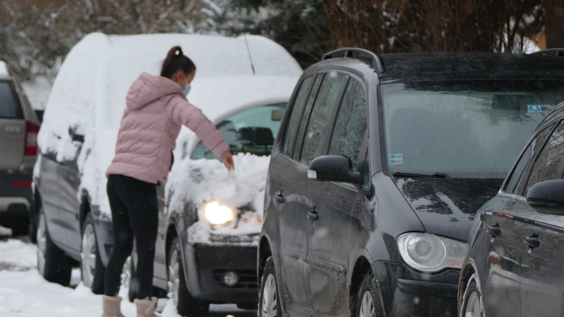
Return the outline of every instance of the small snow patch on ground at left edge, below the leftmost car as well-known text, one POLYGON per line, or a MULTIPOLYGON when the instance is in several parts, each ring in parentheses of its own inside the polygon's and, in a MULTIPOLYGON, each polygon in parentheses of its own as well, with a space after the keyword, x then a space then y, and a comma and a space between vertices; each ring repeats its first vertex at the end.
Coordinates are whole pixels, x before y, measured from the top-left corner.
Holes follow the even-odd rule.
POLYGON ((0 265, 17 271, 37 267, 37 246, 17 239, 0 243, 0 265))

